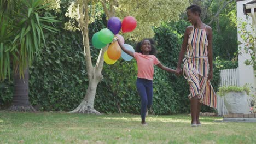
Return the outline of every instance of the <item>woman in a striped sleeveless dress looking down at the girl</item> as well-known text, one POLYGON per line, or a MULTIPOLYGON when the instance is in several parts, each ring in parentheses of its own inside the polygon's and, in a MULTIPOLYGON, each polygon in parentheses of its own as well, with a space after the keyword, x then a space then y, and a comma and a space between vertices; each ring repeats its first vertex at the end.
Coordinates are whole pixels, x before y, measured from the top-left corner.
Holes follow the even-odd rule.
POLYGON ((201 105, 216 108, 216 93, 210 83, 213 77, 212 65, 212 28, 201 21, 201 8, 191 5, 187 8, 187 16, 192 26, 186 28, 184 40, 179 53, 176 74, 183 73, 189 83, 189 99, 191 104, 191 127, 200 126, 199 113, 201 105))

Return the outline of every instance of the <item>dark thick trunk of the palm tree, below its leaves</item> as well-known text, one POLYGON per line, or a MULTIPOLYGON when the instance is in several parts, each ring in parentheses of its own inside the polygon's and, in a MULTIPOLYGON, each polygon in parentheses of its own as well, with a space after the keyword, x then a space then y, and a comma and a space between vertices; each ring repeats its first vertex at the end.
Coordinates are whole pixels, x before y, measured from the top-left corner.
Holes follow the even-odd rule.
POLYGON ((25 70, 24 77, 20 73, 14 74, 13 104, 8 111, 36 112, 28 100, 28 79, 28 68, 25 70))

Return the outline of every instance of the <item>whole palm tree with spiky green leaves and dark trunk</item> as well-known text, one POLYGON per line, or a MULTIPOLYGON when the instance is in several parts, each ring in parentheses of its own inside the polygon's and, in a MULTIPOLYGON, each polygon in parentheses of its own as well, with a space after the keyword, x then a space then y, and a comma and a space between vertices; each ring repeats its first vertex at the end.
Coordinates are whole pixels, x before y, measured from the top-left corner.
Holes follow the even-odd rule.
POLYGON ((46 29, 55 17, 40 13, 47 5, 42 0, 0 0, 0 79, 13 72, 14 95, 10 111, 35 111, 28 101, 28 68, 40 56, 46 29), (12 66, 12 67, 11 67, 12 66), (11 68, 13 70, 11 70, 11 68))

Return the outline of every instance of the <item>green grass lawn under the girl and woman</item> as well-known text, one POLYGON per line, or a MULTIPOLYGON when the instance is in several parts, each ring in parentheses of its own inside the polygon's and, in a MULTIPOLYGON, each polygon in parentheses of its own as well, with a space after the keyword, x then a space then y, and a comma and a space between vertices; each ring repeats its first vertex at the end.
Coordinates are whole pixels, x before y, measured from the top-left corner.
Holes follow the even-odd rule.
POLYGON ((188 115, 82 115, 0 111, 0 143, 256 143, 256 123, 214 122, 201 117, 190 127, 188 115))

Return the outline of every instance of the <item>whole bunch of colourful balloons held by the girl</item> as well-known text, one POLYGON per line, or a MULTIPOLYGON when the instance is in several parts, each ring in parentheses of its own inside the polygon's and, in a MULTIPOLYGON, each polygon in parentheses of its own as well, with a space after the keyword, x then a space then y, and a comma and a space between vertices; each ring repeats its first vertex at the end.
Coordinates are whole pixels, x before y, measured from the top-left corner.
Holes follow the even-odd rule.
MULTIPOLYGON (((136 26, 137 22, 132 16, 125 17, 122 22, 118 17, 111 17, 108 20, 107 28, 101 29, 100 32, 97 32, 92 36, 92 45, 96 49, 101 49, 111 43, 114 37, 117 37, 126 49, 134 52, 135 50, 131 45, 124 44, 124 38, 118 33, 121 29, 123 33, 131 32, 136 26)), ((120 57, 125 61, 131 61, 132 59, 131 56, 121 50, 117 41, 113 41, 109 45, 108 50, 104 53, 104 61, 107 64, 114 64, 120 57)))

